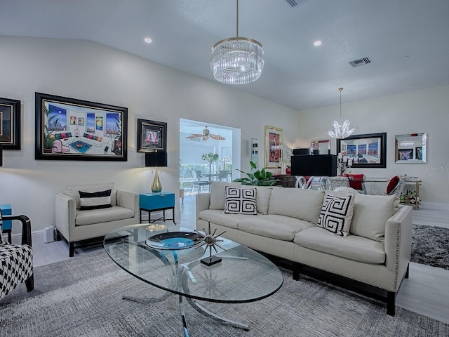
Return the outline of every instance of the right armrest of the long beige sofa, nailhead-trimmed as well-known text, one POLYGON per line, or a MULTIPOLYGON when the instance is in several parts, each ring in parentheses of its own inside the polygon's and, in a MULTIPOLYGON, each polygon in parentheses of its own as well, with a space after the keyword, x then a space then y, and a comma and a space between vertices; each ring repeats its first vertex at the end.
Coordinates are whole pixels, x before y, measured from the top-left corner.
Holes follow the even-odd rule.
MULTIPOLYGON (((412 249, 412 207, 399 205, 385 226, 385 265, 396 277, 405 275, 412 249)), ((400 284, 401 279, 398 279, 400 284)), ((396 284, 398 287, 399 284, 396 284)))

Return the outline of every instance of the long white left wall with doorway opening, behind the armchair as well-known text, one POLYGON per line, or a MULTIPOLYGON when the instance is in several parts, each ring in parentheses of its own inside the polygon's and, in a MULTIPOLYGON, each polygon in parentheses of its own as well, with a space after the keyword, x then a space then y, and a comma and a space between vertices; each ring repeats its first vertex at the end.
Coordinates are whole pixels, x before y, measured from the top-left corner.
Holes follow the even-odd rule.
POLYGON ((55 192, 65 185, 114 181, 149 192, 154 173, 135 149, 138 118, 168 123, 168 168, 159 178, 176 194, 180 118, 241 128, 244 171, 250 138, 262 142, 264 125, 283 128, 286 143, 297 135, 294 110, 91 41, 0 37, 0 50, 0 97, 22 103, 22 150, 4 151, 0 201, 29 216, 34 231, 54 225, 55 192), (35 92, 128 107, 128 161, 34 160, 35 92))

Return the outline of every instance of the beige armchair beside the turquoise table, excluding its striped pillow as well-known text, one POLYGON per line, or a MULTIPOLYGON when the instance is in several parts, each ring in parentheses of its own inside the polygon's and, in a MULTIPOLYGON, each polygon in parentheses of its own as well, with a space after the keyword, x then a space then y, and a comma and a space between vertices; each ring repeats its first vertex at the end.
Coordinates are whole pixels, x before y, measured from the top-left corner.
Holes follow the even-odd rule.
POLYGON ((139 223, 139 194, 116 190, 115 183, 69 185, 55 197, 55 224, 60 236, 69 244, 69 256, 74 256, 74 244, 104 237, 112 230, 139 223), (81 210, 81 192, 111 190, 109 207, 81 210))

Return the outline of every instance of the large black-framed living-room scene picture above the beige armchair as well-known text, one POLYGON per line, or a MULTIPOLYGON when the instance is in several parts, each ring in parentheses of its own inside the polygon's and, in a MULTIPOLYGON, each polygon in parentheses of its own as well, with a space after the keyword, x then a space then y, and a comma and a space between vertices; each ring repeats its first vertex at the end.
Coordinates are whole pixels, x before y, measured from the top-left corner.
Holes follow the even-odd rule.
POLYGON ((126 107, 46 93, 35 100, 35 159, 128 160, 126 107))

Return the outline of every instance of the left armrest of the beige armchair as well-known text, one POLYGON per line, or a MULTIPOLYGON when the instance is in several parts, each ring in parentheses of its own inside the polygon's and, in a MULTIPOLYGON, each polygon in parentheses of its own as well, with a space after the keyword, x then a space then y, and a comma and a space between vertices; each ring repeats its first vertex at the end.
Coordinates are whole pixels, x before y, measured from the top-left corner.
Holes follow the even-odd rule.
POLYGON ((70 233, 75 228, 76 201, 64 193, 56 193, 55 225, 58 231, 70 241, 70 233))

